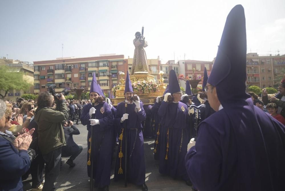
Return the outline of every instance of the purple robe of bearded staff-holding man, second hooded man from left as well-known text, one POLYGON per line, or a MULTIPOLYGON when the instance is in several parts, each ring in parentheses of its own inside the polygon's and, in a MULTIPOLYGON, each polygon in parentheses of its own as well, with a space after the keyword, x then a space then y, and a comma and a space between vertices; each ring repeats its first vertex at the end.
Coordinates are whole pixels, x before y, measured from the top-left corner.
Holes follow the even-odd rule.
POLYGON ((123 140, 119 140, 115 177, 114 180, 124 179, 125 177, 125 157, 127 157, 127 180, 136 185, 142 185, 145 182, 145 162, 143 147, 143 126, 141 122, 145 120, 146 114, 143 109, 143 103, 140 102, 141 111, 136 112, 134 103, 127 104, 127 113, 129 117, 121 123, 121 117, 126 113, 125 102, 117 106, 115 122, 119 128, 119 136, 123 131, 123 140), (127 122, 127 153, 125 152, 125 123, 127 122), (123 152, 123 157, 119 158, 119 153, 123 152), (122 169, 122 174, 119 174, 122 169))

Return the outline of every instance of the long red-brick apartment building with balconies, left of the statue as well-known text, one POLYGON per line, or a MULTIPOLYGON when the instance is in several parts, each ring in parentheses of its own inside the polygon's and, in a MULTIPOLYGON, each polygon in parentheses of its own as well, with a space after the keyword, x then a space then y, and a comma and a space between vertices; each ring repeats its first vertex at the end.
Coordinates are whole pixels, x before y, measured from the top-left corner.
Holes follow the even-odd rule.
POLYGON ((101 89, 107 93, 119 83, 118 71, 124 69, 124 63, 124 55, 116 54, 34 61, 34 93, 47 91, 52 84, 56 84, 56 92, 65 88, 85 89, 87 92, 90 90, 93 72, 101 89))

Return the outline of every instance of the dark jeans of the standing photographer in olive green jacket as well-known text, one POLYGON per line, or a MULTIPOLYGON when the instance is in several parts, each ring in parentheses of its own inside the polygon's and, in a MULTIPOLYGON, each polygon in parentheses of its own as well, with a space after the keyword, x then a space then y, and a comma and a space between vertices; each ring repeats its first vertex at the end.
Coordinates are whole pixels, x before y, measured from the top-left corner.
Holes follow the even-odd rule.
POLYGON ((62 147, 57 148, 48 154, 43 154, 42 157, 46 163, 45 181, 42 191, 55 190, 54 182, 56 181, 60 172, 60 158, 62 147))

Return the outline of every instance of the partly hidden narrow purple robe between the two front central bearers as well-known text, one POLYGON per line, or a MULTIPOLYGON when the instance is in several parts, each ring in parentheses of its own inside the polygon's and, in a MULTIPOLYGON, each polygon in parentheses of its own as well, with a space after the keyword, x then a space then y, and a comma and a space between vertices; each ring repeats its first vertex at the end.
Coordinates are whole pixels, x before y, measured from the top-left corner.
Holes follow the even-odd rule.
POLYGON ((155 132, 155 136, 154 136, 154 160, 159 160, 159 144, 160 144, 160 120, 161 120, 161 116, 159 116, 157 114, 158 109, 159 109, 160 104, 155 102, 154 105, 151 107, 151 114, 152 116, 154 116, 154 132, 155 132))

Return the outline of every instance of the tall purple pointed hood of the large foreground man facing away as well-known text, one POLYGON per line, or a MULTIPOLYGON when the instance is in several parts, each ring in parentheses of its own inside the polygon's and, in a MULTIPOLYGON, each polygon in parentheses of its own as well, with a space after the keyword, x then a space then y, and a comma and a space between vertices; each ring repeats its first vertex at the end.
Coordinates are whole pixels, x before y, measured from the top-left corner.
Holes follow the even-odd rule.
POLYGON ((249 98, 245 93, 247 38, 243 6, 236 5, 227 16, 217 57, 208 83, 215 86, 223 107, 249 98))

